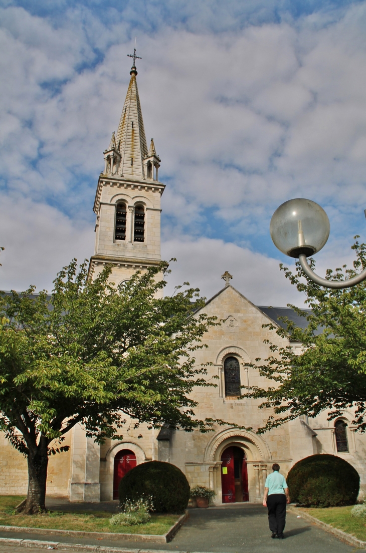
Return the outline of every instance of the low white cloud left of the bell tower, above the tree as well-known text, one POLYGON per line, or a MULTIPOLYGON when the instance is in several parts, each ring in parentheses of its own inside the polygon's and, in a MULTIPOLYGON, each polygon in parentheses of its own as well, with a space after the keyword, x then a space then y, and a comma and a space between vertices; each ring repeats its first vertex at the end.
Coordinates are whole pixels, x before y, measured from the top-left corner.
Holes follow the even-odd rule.
POLYGON ((3 198, 0 204, 0 289, 52 289, 56 273, 73 257, 90 257, 92 227, 75 225, 56 208, 30 200, 3 198))

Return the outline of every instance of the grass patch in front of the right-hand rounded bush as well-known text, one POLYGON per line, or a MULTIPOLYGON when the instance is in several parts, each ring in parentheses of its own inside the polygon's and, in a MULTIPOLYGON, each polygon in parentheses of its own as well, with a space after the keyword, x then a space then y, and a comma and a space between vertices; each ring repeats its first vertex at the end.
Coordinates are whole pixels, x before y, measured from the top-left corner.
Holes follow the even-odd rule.
POLYGON ((333 528, 338 528, 338 530, 352 534, 359 540, 366 541, 366 521, 351 517, 351 509, 352 505, 350 507, 328 507, 327 509, 299 508, 298 510, 304 510, 312 517, 330 524, 333 528))

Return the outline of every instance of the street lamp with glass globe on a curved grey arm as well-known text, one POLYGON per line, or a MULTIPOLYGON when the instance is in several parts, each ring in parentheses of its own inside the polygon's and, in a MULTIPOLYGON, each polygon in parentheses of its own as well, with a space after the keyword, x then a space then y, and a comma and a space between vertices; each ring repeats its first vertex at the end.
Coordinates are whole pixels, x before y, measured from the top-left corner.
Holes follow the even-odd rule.
MULTIPOLYGON (((366 210, 365 210, 366 215, 366 210)), ((275 246, 286 255, 298 258, 303 272, 316 284, 326 288, 349 288, 366 279, 366 269, 348 280, 327 280, 313 272, 307 257, 326 244, 329 231, 327 213, 305 198, 288 200, 272 215, 270 233, 275 246)))

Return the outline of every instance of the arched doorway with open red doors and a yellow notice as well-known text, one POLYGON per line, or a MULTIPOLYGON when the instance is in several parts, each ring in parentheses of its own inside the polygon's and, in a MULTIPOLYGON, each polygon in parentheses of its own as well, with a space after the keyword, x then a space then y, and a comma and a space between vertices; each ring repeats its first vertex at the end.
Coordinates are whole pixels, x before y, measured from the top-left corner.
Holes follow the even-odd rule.
POLYGON ((248 470, 241 447, 226 447, 221 454, 221 491, 223 503, 249 501, 248 470))

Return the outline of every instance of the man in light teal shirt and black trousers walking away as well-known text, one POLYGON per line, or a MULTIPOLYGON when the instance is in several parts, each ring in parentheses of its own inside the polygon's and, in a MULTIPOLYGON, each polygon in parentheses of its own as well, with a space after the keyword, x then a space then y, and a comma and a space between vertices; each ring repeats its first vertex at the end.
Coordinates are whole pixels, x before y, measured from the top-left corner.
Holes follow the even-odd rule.
POLYGON ((279 473, 280 465, 272 465, 272 474, 266 478, 263 505, 268 507, 268 521, 272 538, 283 540, 283 530, 286 524, 286 503, 290 503, 290 495, 285 478, 279 473))

